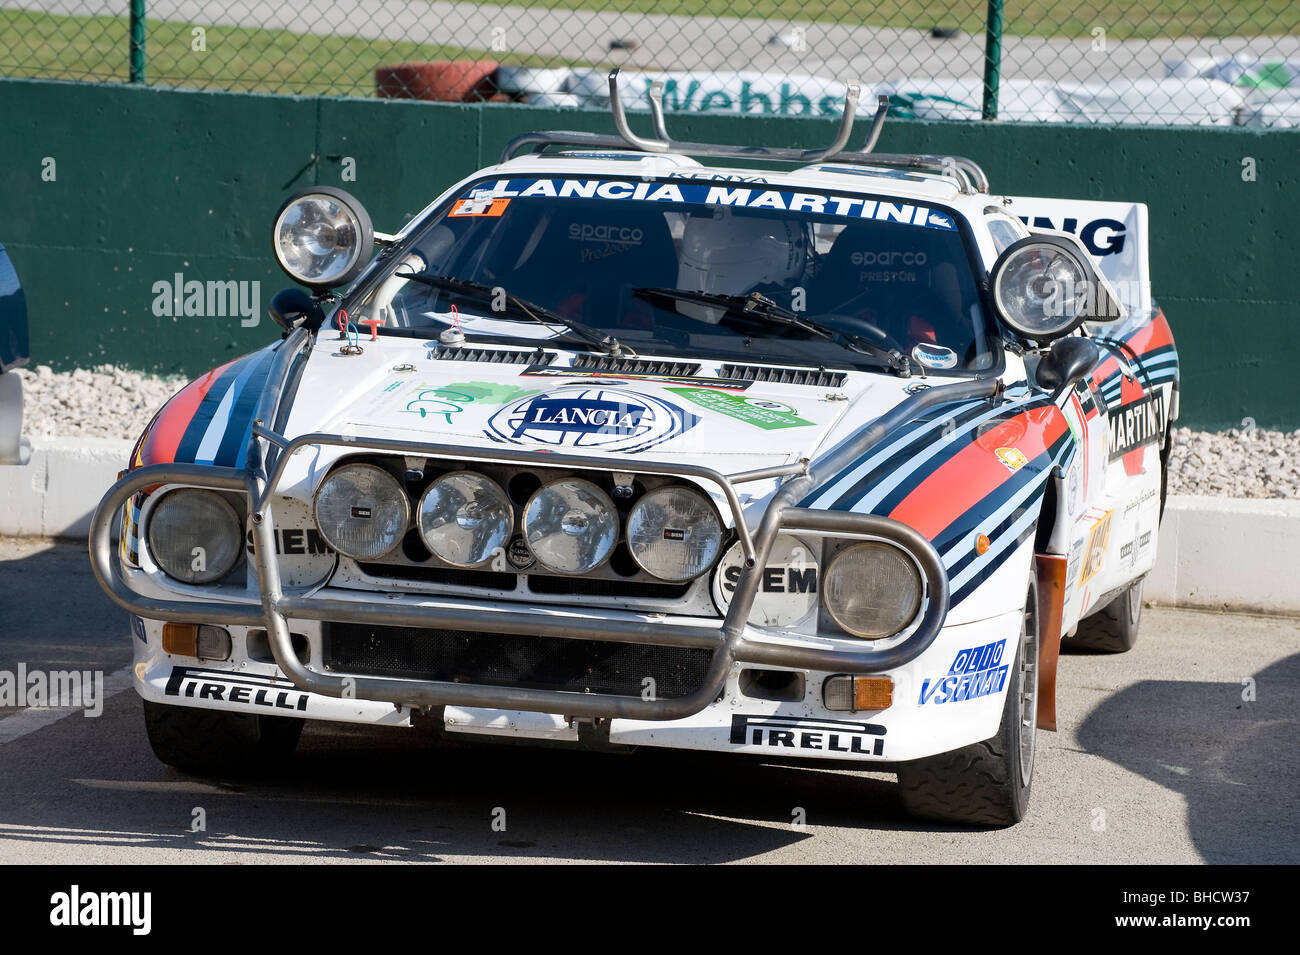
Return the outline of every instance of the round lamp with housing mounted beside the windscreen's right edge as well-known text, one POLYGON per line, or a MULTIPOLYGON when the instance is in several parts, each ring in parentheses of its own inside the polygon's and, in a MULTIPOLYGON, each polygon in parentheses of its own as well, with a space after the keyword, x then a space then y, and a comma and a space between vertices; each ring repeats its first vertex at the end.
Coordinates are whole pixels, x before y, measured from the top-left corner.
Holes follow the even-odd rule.
POLYGON ((1031 342, 1063 338, 1087 321, 1123 318, 1105 275, 1067 233, 1039 231, 1013 242, 989 270, 997 316, 1031 342))

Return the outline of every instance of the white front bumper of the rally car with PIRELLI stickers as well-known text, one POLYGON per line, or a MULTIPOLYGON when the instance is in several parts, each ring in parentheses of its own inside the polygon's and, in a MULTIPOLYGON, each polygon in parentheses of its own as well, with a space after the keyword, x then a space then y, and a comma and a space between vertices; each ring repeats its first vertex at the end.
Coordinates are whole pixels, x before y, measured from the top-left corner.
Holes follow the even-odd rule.
MULTIPOLYGON (((822 685, 831 674, 815 670, 802 670, 805 693, 800 699, 776 702, 754 696, 742 678, 749 665, 733 663, 718 698, 698 712, 670 721, 614 717, 602 728, 601 741, 862 763, 894 763, 948 752, 994 735, 1005 696, 1004 691, 991 691, 968 699, 956 699, 952 694, 942 699, 944 689, 941 685, 933 689, 936 682, 972 647, 1002 641, 1014 647, 1019 626, 1019 615, 1014 612, 945 626, 926 652, 888 672, 894 699, 884 711, 827 709, 822 685)), ((412 725, 416 716, 410 706, 300 690, 264 654, 250 652, 248 631, 257 633, 257 628, 233 626, 234 654, 221 663, 164 652, 161 622, 140 621, 135 629, 135 687, 140 696, 155 703, 394 728, 412 725)), ((312 626, 295 628, 299 629, 308 630, 315 650, 312 626)), ((1004 656, 1000 663, 1011 661, 1004 656)), ((1002 690, 1009 685, 1010 680, 1002 690)), ((500 706, 447 704, 436 707, 430 716, 434 725, 441 719, 448 734, 585 742, 578 721, 560 712, 542 715, 500 706)))

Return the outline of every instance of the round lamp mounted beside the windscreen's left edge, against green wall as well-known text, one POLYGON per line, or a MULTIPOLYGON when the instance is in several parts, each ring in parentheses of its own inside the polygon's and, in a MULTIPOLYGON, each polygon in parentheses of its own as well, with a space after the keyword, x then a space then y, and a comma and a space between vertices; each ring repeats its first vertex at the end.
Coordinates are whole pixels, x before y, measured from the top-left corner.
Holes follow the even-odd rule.
POLYGON ((374 230, 365 207, 332 186, 290 196, 276 213, 270 238, 280 268, 308 288, 351 282, 374 251, 374 230))

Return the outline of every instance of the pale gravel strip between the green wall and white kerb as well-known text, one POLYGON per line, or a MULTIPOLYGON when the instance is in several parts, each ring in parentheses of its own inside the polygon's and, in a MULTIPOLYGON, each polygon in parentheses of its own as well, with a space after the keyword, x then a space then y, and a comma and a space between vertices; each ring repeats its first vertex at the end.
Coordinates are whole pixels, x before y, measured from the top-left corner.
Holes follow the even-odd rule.
MULTIPOLYGON (((58 373, 39 365, 18 374, 26 407, 23 433, 30 437, 134 440, 186 382, 113 365, 58 373)), ((1169 492, 1300 499, 1300 430, 1175 427, 1169 492)))

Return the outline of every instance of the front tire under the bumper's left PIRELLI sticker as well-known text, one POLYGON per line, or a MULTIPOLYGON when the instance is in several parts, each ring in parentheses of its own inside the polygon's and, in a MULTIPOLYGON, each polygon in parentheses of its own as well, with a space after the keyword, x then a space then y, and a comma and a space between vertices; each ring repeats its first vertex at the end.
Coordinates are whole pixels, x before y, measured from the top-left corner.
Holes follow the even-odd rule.
POLYGON ((153 755, 196 776, 260 776, 298 748, 303 721, 291 716, 228 713, 144 702, 153 755))

